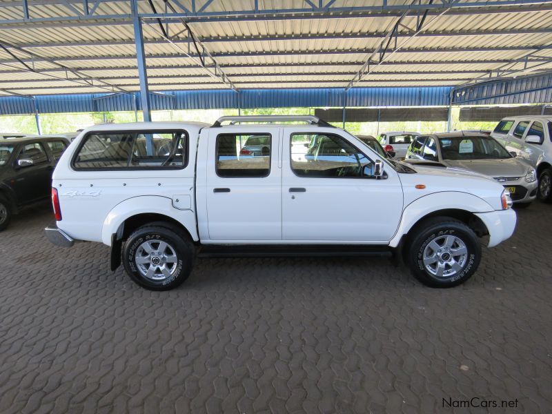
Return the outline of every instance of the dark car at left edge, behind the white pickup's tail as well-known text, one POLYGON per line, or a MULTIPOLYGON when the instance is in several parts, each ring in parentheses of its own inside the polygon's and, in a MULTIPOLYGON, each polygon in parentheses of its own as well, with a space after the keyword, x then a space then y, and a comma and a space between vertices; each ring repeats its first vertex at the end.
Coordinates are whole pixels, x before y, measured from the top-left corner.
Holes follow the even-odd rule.
POLYGON ((50 197, 52 172, 68 145, 63 137, 0 141, 0 231, 21 208, 50 197))

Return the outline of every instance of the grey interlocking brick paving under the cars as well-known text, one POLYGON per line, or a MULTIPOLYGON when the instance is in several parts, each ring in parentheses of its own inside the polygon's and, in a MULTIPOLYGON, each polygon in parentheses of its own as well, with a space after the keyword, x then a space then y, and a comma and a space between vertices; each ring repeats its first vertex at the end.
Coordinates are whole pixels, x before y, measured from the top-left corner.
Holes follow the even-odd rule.
POLYGON ((105 246, 50 246, 34 208, 0 235, 0 411, 550 412, 551 217, 521 210, 451 290, 388 259, 201 259, 152 293, 105 246))

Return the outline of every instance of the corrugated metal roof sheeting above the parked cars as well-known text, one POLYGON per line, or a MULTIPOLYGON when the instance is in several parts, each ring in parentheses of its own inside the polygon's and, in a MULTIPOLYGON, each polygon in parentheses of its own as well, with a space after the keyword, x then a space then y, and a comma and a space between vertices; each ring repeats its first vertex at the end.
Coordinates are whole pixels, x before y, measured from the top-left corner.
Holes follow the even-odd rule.
MULTIPOLYGON (((43 1, 40 6, 29 3, 31 18, 52 18, 72 12, 62 1, 43 1)), ((158 11, 165 10, 162 0, 153 3, 158 11)), ((189 0, 179 3, 190 10, 192 8, 189 0)), ((282 83, 297 88, 344 87, 395 25, 397 14, 353 13, 358 7, 379 5, 381 1, 376 0, 336 0, 332 3, 332 7, 340 10, 348 8, 351 14, 322 17, 302 14, 286 19, 265 17, 242 21, 192 19, 189 24, 238 88, 273 89, 282 83)), ((389 0, 387 3, 404 5, 405 1, 389 0)), ((80 2, 71 4, 72 8, 82 10, 80 2)), ((197 2, 197 8, 204 4, 197 2)), ((209 3, 208 11, 231 12, 251 6, 251 0, 213 1, 209 3)), ((273 10, 293 8, 297 7, 297 1, 264 1, 262 7, 273 10)), ((151 12, 148 1, 139 1, 139 10, 151 12)), ((97 3, 96 13, 128 15, 130 2, 102 1, 97 3)), ((0 8, 0 20, 20 17, 20 7, 0 8)), ((174 37, 175 44, 171 44, 159 34, 155 19, 145 21, 146 63, 152 90, 226 88, 223 83, 209 77, 203 68, 198 68, 193 59, 186 57, 186 33, 174 37)), ((402 24, 413 28, 417 21, 417 17, 407 16, 402 24)), ((23 72, 17 59, 0 50, 0 89, 24 95, 105 92, 95 86, 76 83, 75 75, 66 73, 60 68, 61 64, 113 86, 131 92, 137 90, 132 21, 92 23, 97 26, 88 23, 79 26, 77 21, 0 25, 0 39, 38 56, 30 59, 24 53, 13 51, 28 65, 33 65, 38 73, 23 72), (117 26, 112 26, 113 23, 117 26), (43 61, 40 57, 59 64, 43 61)), ((172 36, 182 28, 181 23, 168 24, 172 36)), ((457 86, 466 79, 497 70, 531 52, 533 57, 551 59, 551 63, 538 66, 538 70, 552 69, 552 49, 549 48, 552 46, 552 11, 549 8, 541 10, 528 5, 520 11, 519 8, 497 6, 492 12, 479 7, 466 14, 439 17, 430 14, 426 27, 416 37, 409 38, 411 34, 407 28, 401 27, 397 44, 401 46, 404 41, 408 42, 387 57, 382 65, 371 68, 371 72, 356 86, 457 86), (535 48, 545 49, 535 52, 535 48)), ((193 52, 193 47, 190 51, 193 52)), ((511 69, 520 70, 523 65, 519 62, 511 69)))

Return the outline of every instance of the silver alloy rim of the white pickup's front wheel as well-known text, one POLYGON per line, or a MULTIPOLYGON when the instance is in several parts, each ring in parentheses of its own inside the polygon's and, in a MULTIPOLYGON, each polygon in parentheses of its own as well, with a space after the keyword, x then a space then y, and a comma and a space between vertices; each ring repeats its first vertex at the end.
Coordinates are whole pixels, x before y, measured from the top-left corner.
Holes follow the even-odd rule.
POLYGON ((451 277, 460 273, 468 258, 468 248, 460 237, 435 237, 424 248, 423 262, 426 271, 436 277, 451 277))

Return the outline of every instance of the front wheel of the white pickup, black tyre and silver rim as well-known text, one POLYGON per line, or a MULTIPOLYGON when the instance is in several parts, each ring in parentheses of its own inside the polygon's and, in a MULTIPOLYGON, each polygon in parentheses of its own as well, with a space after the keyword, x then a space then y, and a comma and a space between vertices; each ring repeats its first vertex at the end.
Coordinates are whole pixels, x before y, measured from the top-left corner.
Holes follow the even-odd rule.
POLYGON ((451 288, 466 282, 477 270, 481 244, 462 221, 429 219, 415 231, 407 247, 407 264, 426 286, 451 288))

